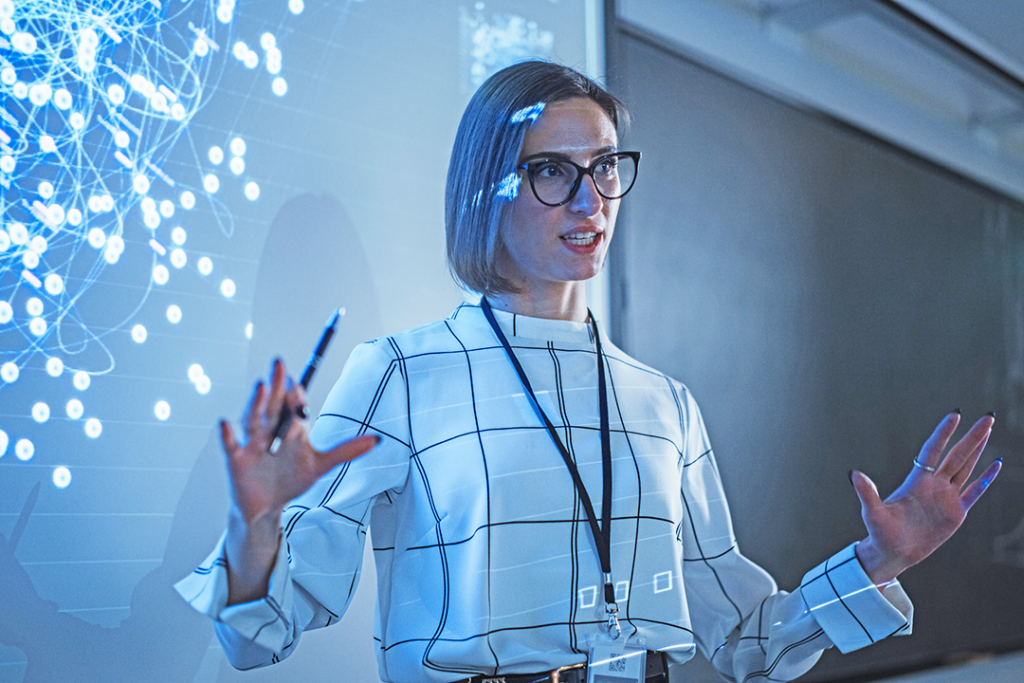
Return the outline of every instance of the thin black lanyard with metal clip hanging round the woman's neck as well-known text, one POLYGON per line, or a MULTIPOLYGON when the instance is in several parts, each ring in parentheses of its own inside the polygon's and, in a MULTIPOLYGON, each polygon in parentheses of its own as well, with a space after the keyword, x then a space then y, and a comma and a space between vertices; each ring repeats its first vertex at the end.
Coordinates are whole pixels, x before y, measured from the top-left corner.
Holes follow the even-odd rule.
POLYGON ((565 461, 565 467, 568 468, 569 474, 572 475, 572 483, 580 495, 580 502, 583 503, 583 508, 587 512, 587 520, 590 522, 590 530, 594 535, 594 545, 597 548, 597 557, 601 562, 601 571, 604 572, 604 602, 608 612, 608 630, 614 630, 617 637, 621 631, 617 618, 618 605, 615 604, 615 589, 611 583, 611 429, 608 427, 608 389, 604 381, 604 355, 601 351, 601 335, 597 331, 597 323, 594 321, 594 315, 590 313, 590 309, 588 309, 587 313, 590 316, 590 325, 594 331, 594 340, 597 345, 597 397, 601 411, 603 497, 601 499, 600 526, 597 523, 594 506, 590 502, 590 495, 587 493, 587 487, 583 484, 583 479, 580 478, 580 471, 577 469, 575 463, 572 462, 568 449, 565 447, 562 439, 558 436, 558 432, 555 431, 555 426, 551 424, 551 420, 548 419, 544 409, 537 401, 534 387, 530 386, 529 379, 519 364, 519 358, 516 357, 512 351, 512 347, 509 345, 508 339, 505 338, 505 333, 498 327, 498 322, 495 319, 495 314, 490 310, 490 304, 487 302, 486 297, 480 299, 480 308, 483 309, 483 314, 487 318, 487 323, 490 324, 490 329, 495 331, 498 341, 505 347, 505 352, 515 367, 516 374, 519 375, 519 380, 522 382, 522 386, 526 389, 526 394, 534 404, 534 410, 537 411, 537 414, 544 421, 544 425, 548 428, 548 434, 551 435, 551 440, 558 446, 558 452, 562 454, 562 460, 565 461))

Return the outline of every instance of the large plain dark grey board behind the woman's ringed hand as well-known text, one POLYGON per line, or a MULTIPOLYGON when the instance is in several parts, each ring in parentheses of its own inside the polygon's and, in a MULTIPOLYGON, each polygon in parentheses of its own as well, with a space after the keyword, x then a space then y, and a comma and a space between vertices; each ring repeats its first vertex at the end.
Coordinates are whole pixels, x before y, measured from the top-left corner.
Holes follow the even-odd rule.
MULTIPOLYGON (((853 468, 885 495, 937 422, 999 414, 1005 476, 903 583, 914 634, 808 680, 1024 646, 1024 211, 624 26, 609 74, 643 152, 611 261, 627 350, 700 402, 741 549, 782 588, 862 538, 853 468), (1018 546, 1020 542, 1017 542, 1018 546)), ((963 431, 963 430, 962 430, 963 431)))

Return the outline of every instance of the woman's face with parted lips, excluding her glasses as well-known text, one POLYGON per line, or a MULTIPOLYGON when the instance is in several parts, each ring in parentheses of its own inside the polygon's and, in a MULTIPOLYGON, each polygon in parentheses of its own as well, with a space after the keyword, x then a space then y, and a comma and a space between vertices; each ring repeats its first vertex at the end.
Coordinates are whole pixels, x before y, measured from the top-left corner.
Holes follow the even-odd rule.
MULTIPOLYGON (((617 144, 615 127, 596 102, 566 99, 547 105, 526 131, 519 163, 568 159, 586 168, 617 144)), ((618 200, 598 195, 594 179, 585 175, 567 204, 546 206, 534 195, 526 171, 519 173, 519 194, 502 230, 508 258, 501 274, 536 294, 596 275, 615 227, 618 200)))

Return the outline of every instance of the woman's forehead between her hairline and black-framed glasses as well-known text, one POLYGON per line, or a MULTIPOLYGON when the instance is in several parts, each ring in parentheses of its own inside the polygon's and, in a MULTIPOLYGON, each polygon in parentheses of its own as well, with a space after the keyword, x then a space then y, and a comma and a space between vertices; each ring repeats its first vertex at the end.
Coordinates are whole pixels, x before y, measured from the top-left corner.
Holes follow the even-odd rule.
POLYGON ((592 99, 573 98, 544 108, 530 124, 522 143, 522 156, 542 152, 587 154, 615 147, 618 136, 604 110, 592 99))

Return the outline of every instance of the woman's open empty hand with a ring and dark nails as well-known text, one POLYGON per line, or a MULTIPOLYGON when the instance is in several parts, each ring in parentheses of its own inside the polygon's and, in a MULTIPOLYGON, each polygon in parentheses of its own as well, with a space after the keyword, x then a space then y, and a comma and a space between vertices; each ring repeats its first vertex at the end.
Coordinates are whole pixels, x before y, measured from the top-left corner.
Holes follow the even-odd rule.
POLYGON ((943 458, 959 417, 950 413, 939 423, 918 456, 922 467, 913 467, 903 485, 885 501, 866 474, 851 473, 867 527, 867 538, 857 544, 857 558, 874 584, 892 581, 935 552, 959 528, 968 510, 999 473, 1002 463, 996 460, 966 485, 992 432, 991 415, 978 420, 943 458))

